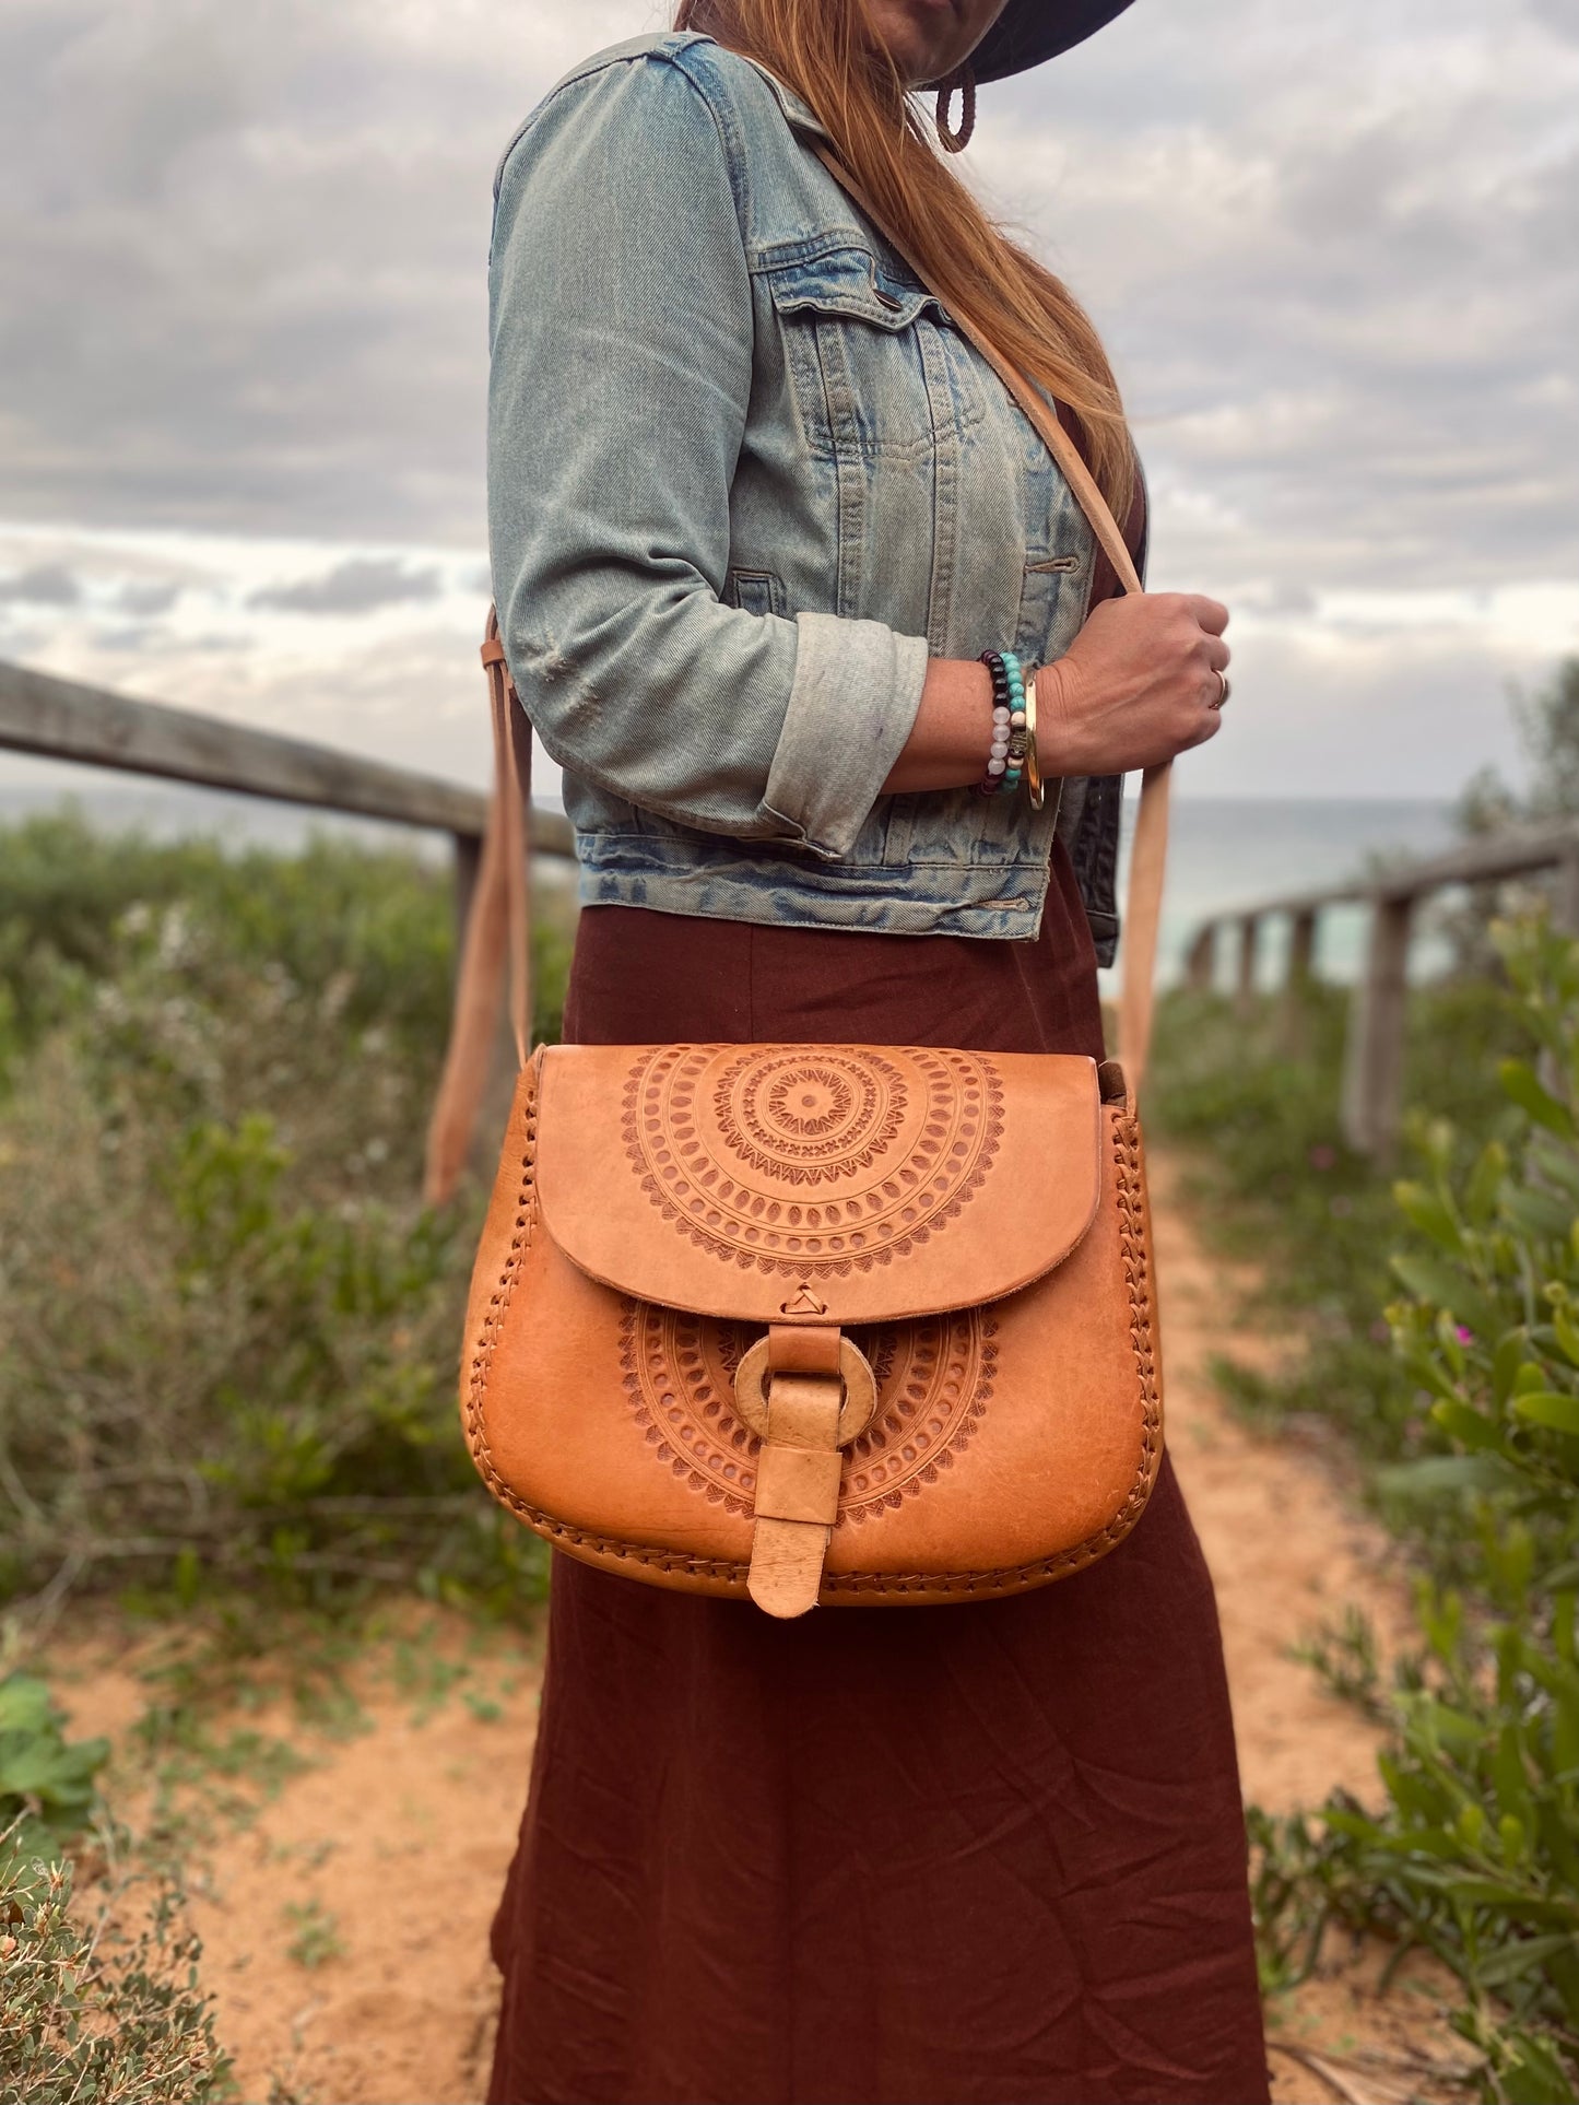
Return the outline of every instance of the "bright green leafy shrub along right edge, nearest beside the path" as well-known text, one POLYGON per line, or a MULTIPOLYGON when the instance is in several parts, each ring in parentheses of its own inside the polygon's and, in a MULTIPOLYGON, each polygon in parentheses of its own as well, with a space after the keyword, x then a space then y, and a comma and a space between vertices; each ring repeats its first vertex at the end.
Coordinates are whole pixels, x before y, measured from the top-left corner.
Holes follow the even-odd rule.
POLYGON ((1383 1488, 1455 1556, 1396 1686, 1358 1676, 1390 1726, 1381 1808, 1337 1796, 1255 1838, 1274 1972, 1331 1913, 1425 1947, 1484 2094, 1547 2105, 1579 2097, 1579 943, 1533 922, 1497 947, 1539 1061, 1501 1061, 1497 1137, 1430 1124, 1396 1189, 1387 1318, 1438 1450, 1383 1488))

